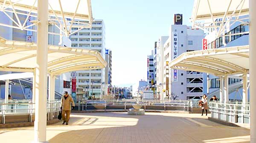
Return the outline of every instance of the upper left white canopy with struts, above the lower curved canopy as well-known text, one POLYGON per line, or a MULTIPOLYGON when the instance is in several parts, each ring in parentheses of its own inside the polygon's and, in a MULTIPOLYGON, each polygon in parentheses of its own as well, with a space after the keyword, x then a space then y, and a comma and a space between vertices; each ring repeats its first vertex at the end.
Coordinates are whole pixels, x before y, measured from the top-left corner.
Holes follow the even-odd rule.
MULTIPOLYGON (((90 0, 49 0, 49 24, 55 25, 61 32, 49 34, 70 36, 73 33, 71 28, 77 27, 79 30, 82 28, 88 28, 91 26, 92 8, 90 0)), ((0 11, 12 20, 13 25, 6 25, 0 23, 2 26, 16 28, 20 30, 36 31, 36 28, 32 26, 37 25, 39 21, 37 17, 37 0, 0 0, 0 11), (8 13, 13 13, 11 17, 8 13), (24 21, 20 20, 20 15, 25 15, 24 21), (31 17, 35 17, 32 20, 32 24, 26 25, 31 17)))

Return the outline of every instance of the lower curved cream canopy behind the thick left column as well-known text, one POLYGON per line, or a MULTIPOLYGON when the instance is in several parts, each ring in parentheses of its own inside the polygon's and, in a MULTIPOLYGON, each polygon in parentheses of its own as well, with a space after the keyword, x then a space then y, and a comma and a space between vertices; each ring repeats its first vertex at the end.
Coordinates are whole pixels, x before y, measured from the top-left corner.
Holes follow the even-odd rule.
MULTIPOLYGON (((0 37, 0 70, 33 72, 37 66, 36 50, 36 43, 9 41, 0 37)), ((101 54, 94 50, 48 45, 50 74, 100 69, 106 64, 101 54)))

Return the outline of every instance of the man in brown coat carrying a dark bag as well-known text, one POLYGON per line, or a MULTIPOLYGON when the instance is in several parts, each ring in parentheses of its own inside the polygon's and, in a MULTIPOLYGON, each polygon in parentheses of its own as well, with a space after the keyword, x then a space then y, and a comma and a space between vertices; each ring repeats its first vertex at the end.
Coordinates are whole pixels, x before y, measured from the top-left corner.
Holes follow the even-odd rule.
POLYGON ((63 123, 66 123, 66 125, 68 125, 68 121, 70 118, 70 111, 71 109, 73 109, 75 107, 75 102, 73 101, 73 98, 68 95, 67 91, 65 91, 63 93, 63 96, 61 97, 61 116, 62 116, 62 120, 63 123), (72 103, 72 107, 71 107, 71 103, 72 103), (65 117, 65 113, 66 113, 66 117, 65 117))

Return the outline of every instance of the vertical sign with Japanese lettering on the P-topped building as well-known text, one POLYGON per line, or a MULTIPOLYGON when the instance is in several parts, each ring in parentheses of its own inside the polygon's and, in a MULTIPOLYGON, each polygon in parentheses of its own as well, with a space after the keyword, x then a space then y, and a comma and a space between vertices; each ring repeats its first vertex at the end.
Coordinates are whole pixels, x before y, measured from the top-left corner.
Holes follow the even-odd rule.
MULTIPOLYGON (((172 54, 172 59, 176 59, 178 57, 178 34, 177 32, 174 32, 172 35, 172 42, 173 42, 173 54, 172 54)), ((178 70, 173 69, 173 77, 172 81, 178 81, 178 70)))

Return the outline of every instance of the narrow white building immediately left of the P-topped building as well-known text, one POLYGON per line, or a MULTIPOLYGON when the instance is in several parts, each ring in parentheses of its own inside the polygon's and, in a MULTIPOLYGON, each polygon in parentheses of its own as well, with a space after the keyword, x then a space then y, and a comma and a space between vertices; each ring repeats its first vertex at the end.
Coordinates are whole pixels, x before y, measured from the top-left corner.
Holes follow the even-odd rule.
POLYGON ((165 93, 163 94, 163 62, 164 62, 164 54, 163 54, 163 46, 164 43, 167 41, 169 36, 160 36, 157 42, 157 53, 156 53, 156 75, 157 75, 157 84, 155 85, 157 87, 157 99, 164 99, 165 93), (164 96, 163 96, 164 95, 164 96))

